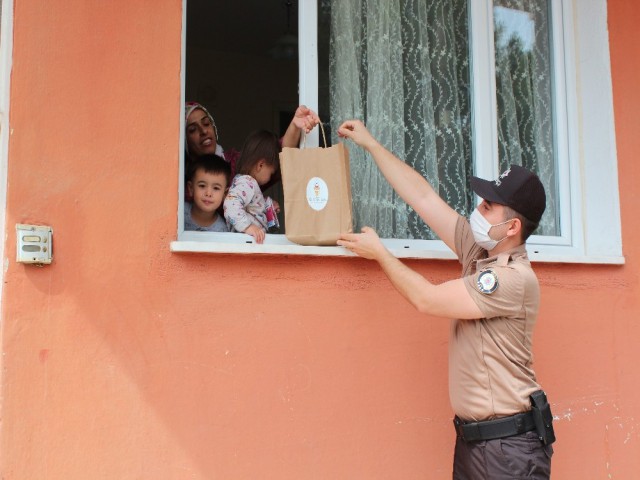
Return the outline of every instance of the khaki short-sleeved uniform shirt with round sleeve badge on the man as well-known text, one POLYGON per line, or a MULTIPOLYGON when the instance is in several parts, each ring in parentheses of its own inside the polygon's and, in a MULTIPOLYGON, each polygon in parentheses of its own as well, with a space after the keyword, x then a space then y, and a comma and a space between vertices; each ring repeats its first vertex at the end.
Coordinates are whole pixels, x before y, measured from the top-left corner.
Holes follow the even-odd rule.
POLYGON ((529 395, 540 388, 531 352, 540 288, 525 246, 487 258, 487 251, 475 243, 469 222, 460 217, 455 248, 467 291, 484 318, 451 322, 449 396, 453 410, 466 421, 527 411, 531 408, 529 395), (479 284, 483 272, 488 273, 479 284))

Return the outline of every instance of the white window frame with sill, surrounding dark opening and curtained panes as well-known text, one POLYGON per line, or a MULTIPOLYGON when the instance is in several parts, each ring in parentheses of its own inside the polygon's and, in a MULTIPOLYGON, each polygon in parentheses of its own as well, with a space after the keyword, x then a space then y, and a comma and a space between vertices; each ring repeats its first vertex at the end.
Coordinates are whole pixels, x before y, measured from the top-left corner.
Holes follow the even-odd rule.
MULTIPOLYGON (((556 149, 561 236, 534 235, 529 257, 539 262, 622 264, 618 168, 609 61, 606 0, 552 0, 556 149)), ((496 88, 493 2, 470 2, 475 172, 496 178, 496 88), (480 25, 480 28, 477 26, 480 25), (484 94, 483 94, 484 92, 484 94)), ((317 0, 299 1, 300 103, 318 108, 317 0)), ((182 105, 184 108, 186 0, 183 0, 182 105)), ((181 115, 184 132, 184 115, 181 115)), ((180 199, 184 198, 184 134, 180 137, 180 199)), ((318 145, 314 130, 306 140, 318 145)), ((342 247, 308 247, 284 235, 263 244, 240 233, 185 232, 182 201, 174 252, 352 256, 342 247)), ((440 240, 384 239, 399 258, 453 259, 440 240)))

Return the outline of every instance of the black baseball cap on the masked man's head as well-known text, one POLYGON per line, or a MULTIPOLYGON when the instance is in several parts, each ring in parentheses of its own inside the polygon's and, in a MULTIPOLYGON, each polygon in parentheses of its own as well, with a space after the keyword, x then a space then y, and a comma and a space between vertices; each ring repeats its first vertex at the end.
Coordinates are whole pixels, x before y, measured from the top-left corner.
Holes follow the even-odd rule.
POLYGON ((520 165, 511 165, 493 181, 471 177, 471 188, 480 198, 513 208, 535 223, 540 222, 547 204, 538 176, 520 165))

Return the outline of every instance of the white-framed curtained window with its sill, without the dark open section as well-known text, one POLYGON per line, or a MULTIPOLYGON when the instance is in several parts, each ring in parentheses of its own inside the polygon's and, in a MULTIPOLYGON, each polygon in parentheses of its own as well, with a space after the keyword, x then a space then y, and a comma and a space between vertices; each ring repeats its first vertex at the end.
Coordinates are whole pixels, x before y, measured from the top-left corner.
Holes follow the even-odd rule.
MULTIPOLYGON (((300 0, 298 9, 300 101, 330 131, 364 120, 463 215, 477 202, 472 175, 534 169, 548 204, 531 258, 623 262, 605 0, 300 0)), ((374 226, 397 256, 453 258, 364 152, 350 150, 355 228, 374 226)), ((233 247, 228 237, 188 248, 343 254, 283 236, 233 247)))

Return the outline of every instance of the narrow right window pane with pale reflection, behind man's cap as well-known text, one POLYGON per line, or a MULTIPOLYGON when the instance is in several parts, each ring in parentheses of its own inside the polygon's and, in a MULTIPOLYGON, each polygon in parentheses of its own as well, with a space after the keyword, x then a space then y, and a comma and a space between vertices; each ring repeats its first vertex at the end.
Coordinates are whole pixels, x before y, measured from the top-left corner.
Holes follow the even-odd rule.
POLYGON ((500 170, 538 173, 547 192, 539 235, 560 235, 548 0, 494 0, 500 170))

